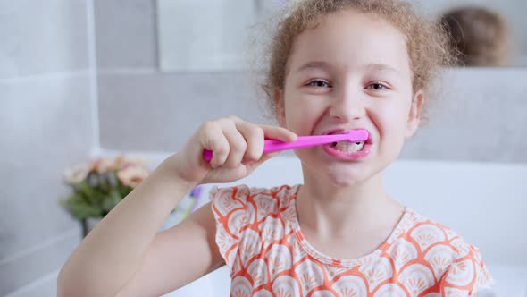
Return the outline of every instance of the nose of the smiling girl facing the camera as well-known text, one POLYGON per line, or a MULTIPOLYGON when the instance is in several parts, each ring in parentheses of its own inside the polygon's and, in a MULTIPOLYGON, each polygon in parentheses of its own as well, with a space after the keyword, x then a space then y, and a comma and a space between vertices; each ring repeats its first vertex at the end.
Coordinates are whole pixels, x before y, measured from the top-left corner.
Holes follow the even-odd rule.
POLYGON ((366 111, 361 94, 351 89, 334 93, 330 102, 330 115, 342 122, 352 122, 364 117, 366 111))

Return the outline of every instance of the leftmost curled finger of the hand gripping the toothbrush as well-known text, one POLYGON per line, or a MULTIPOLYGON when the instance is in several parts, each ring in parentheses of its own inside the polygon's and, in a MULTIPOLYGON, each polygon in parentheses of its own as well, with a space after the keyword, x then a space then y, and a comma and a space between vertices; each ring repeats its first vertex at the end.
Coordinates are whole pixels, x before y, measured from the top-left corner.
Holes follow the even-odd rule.
POLYGON ((202 125, 201 130, 203 131, 203 136, 199 138, 201 146, 213 151, 213 158, 209 164, 213 168, 222 165, 229 156, 229 141, 223 135, 221 125, 207 122, 202 125))

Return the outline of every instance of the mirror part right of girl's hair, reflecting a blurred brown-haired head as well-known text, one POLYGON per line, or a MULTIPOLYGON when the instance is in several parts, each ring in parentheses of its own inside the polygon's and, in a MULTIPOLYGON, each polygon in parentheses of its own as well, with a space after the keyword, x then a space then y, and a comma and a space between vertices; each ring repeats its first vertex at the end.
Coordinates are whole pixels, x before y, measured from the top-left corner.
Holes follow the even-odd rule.
POLYGON ((462 66, 527 66, 524 0, 411 0, 451 34, 462 66))

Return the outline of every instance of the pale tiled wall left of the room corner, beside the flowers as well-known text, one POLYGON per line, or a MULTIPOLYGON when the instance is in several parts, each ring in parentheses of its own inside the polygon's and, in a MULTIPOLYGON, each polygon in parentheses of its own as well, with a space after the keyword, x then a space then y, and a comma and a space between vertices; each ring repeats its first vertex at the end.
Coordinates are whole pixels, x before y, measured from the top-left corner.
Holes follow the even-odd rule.
POLYGON ((88 3, 0 1, 0 296, 53 290, 79 242, 57 200, 96 143, 88 3))

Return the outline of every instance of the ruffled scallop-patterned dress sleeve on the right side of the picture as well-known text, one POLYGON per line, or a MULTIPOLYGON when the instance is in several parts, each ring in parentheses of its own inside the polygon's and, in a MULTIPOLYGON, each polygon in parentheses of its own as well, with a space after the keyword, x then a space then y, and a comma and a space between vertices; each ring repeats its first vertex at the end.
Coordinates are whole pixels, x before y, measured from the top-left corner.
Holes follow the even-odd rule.
POLYGON ((475 296, 495 283, 480 250, 467 243, 441 279, 441 296, 475 296))

